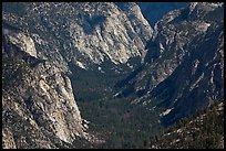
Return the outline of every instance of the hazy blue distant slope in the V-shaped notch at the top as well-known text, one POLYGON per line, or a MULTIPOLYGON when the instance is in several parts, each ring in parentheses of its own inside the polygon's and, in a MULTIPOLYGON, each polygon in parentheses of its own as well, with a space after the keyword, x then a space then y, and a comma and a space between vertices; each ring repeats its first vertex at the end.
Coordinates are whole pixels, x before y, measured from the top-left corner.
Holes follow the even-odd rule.
POLYGON ((167 12, 183 8, 188 2, 137 2, 137 4, 144 18, 154 28, 155 23, 167 12))

